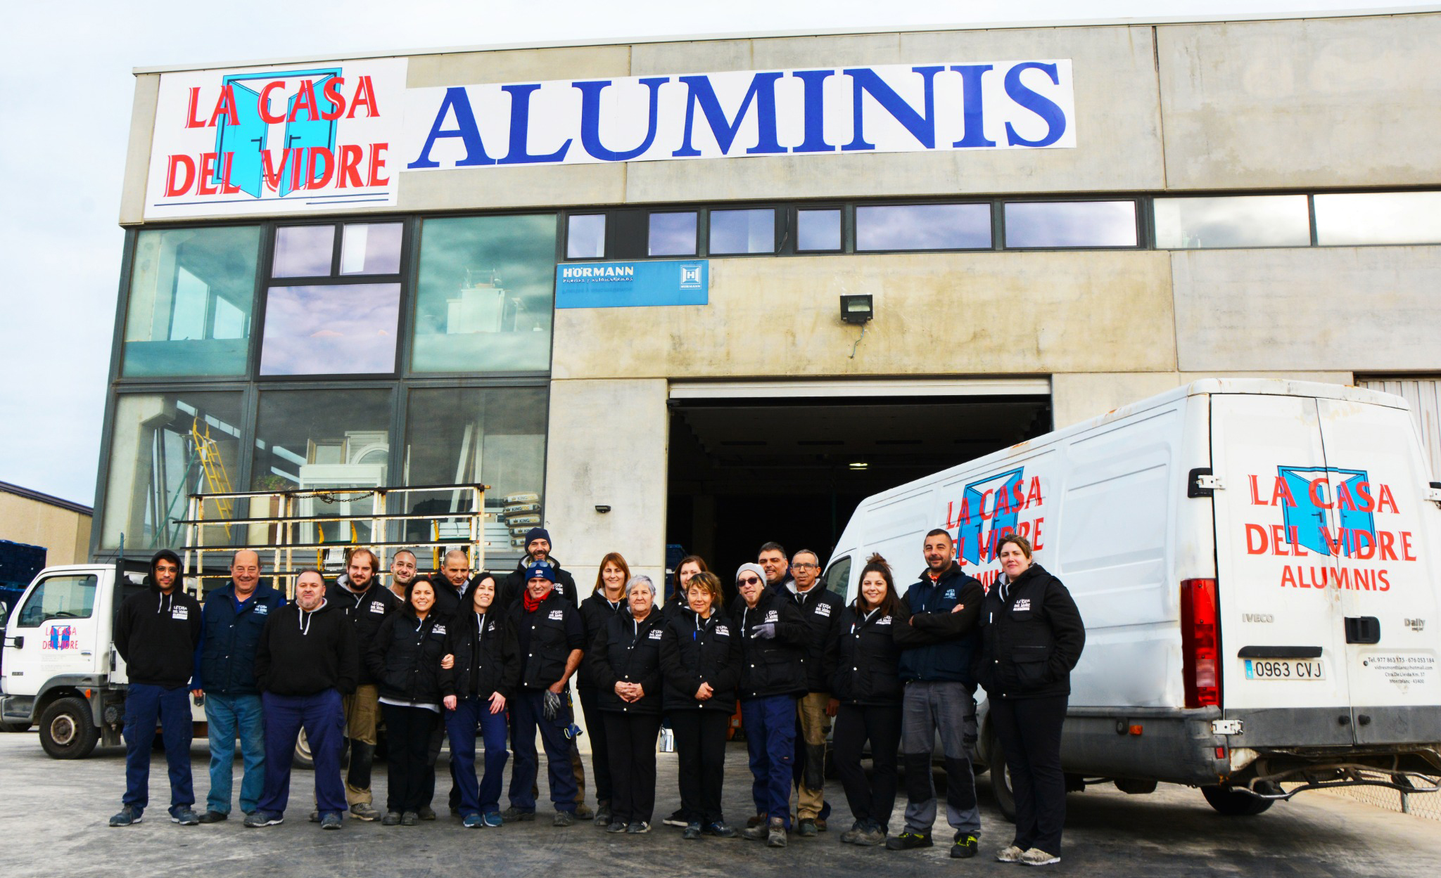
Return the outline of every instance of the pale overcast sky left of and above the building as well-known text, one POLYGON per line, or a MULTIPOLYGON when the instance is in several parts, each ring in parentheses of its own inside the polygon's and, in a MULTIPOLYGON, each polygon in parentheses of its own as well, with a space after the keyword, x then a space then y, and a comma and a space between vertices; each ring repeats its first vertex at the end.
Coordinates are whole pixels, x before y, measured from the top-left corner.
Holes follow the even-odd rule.
MULTIPOLYGON (((357 50, 844 27, 1391 7, 1365 0, 79 0, 0 36, 0 481, 92 504, 135 66, 357 50)), ((4 534, 0 534, 3 537, 4 534)))

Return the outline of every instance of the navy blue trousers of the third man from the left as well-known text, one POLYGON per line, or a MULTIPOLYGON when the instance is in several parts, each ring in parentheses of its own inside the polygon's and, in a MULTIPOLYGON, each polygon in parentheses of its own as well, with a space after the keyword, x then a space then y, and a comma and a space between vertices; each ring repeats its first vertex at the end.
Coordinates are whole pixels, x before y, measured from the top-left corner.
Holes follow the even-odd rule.
POLYGON ((346 714, 340 692, 314 695, 262 692, 265 708, 265 790, 256 807, 285 813, 290 803, 290 763, 300 730, 305 730, 316 763, 316 807, 321 816, 344 813, 346 787, 340 782, 340 751, 346 738, 346 714))

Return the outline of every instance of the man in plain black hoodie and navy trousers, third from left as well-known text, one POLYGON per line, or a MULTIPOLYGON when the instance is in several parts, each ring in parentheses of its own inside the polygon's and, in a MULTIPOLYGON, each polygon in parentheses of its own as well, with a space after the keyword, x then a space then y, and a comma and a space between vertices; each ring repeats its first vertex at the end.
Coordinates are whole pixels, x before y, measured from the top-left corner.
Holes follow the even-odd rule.
POLYGON ((359 672, 354 628, 326 599, 320 571, 303 571, 295 580, 295 603, 269 615, 255 652, 255 679, 265 708, 265 789, 245 818, 246 826, 274 826, 285 819, 291 757, 304 728, 316 763, 320 828, 340 829, 346 810, 340 783, 342 695, 354 691, 359 672))

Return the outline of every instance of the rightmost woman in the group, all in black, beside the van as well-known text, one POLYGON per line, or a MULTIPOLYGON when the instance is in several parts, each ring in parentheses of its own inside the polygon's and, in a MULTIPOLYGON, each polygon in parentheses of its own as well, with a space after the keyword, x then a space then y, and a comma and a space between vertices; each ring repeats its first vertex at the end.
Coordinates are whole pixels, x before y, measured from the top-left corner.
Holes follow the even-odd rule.
POLYGON ((1035 563, 1025 537, 1006 534, 996 556, 1001 574, 981 602, 976 675, 986 687, 1016 796, 1016 839, 996 859, 1048 865, 1061 862, 1066 822, 1061 724, 1071 669, 1085 648, 1085 623, 1061 580, 1035 563))

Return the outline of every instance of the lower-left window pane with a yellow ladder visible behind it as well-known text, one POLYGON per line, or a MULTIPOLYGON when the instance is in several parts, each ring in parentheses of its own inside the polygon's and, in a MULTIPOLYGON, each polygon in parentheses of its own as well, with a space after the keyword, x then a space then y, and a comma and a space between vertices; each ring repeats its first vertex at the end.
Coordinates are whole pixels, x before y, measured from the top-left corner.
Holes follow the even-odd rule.
MULTIPOLYGON (((101 547, 154 550, 184 543, 187 494, 244 491, 239 478, 241 394, 125 393, 115 403, 101 547)), ((206 518, 233 517, 215 501, 206 518)), ((229 543, 208 527, 206 546, 229 543)))

